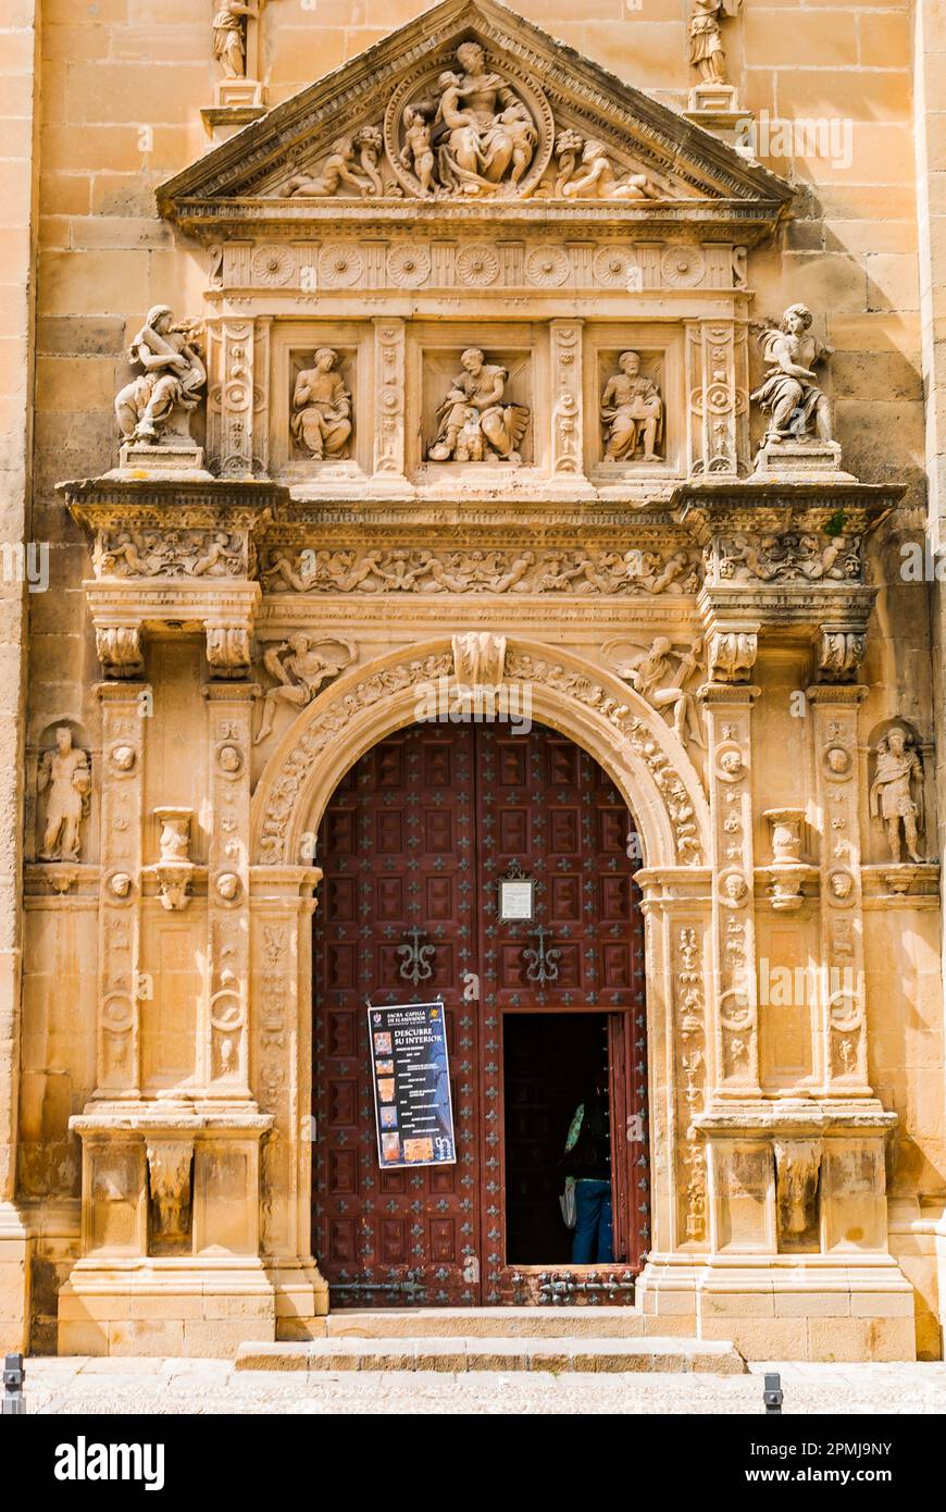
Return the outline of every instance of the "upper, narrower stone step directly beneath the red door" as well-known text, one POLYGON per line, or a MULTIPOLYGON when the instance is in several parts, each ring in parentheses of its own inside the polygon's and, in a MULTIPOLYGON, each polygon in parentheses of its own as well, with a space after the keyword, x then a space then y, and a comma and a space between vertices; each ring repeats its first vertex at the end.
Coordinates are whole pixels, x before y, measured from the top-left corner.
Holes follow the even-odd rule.
MULTIPOLYGON (((326 1338, 641 1338, 660 1320, 635 1308, 342 1308, 326 1338)), ((313 1335, 314 1335, 313 1329, 313 1335)))

